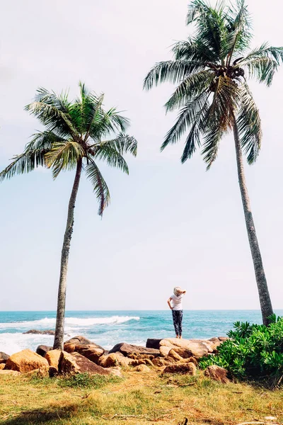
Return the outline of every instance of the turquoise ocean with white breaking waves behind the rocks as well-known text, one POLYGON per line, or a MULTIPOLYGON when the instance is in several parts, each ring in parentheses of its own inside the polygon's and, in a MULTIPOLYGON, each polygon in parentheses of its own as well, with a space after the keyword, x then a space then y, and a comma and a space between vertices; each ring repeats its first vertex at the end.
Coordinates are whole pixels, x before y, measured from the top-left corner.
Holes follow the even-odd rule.
MULTIPOLYGON (((283 315, 283 310, 276 314, 283 315)), ((55 317, 55 312, 0 312, 0 351, 12 354, 52 345, 54 336, 23 332, 54 329, 55 317)), ((260 310, 184 310, 183 338, 225 336, 236 321, 262 323, 260 310)), ((65 334, 65 340, 83 335, 106 349, 118 342, 145 346, 147 338, 175 336, 170 310, 68 311, 65 334)))

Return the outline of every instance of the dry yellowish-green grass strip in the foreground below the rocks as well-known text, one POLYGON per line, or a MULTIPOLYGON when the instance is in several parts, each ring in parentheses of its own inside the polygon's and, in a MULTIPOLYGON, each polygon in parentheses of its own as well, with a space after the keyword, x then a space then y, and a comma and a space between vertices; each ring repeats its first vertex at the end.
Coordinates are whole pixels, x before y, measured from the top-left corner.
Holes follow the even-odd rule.
POLYGON ((283 421, 282 390, 221 385, 186 375, 125 372, 125 378, 0 378, 1 425, 234 425, 283 421), (188 385, 189 384, 189 385, 188 385))

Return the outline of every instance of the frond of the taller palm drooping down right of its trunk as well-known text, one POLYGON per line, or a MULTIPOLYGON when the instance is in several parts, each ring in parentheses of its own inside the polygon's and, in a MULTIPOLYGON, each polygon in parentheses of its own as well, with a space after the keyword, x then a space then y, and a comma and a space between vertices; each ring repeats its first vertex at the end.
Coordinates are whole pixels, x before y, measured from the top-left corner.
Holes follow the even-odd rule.
POLYGON ((241 106, 236 123, 248 164, 253 164, 260 151, 262 130, 260 113, 248 84, 243 84, 241 87, 241 106))

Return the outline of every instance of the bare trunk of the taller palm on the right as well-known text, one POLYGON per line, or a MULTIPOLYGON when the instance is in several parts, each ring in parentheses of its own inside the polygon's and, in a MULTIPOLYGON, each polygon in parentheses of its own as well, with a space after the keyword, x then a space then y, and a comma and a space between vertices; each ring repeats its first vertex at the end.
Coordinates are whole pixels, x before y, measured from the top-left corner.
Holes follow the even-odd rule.
POLYGON ((255 224, 253 222, 253 214, 250 208, 250 199, 248 197, 248 189, 246 186, 246 178, 243 169, 243 154, 241 150, 240 137, 238 134, 238 128, 236 123, 233 126, 233 135, 236 147, 236 158, 238 167, 238 182, 240 185, 240 191, 243 202, 243 211, 245 213, 246 227, 248 232, 248 241, 250 242, 250 251, 253 257, 253 266, 255 268, 255 279, 258 285, 258 294, 260 296, 260 308, 262 312, 262 322, 267 325, 270 320, 267 317, 273 314, 272 304, 270 300, 270 293, 267 287, 267 281, 265 278, 265 271, 262 264, 262 258, 260 254, 260 247, 258 245, 258 238, 255 233, 255 224))

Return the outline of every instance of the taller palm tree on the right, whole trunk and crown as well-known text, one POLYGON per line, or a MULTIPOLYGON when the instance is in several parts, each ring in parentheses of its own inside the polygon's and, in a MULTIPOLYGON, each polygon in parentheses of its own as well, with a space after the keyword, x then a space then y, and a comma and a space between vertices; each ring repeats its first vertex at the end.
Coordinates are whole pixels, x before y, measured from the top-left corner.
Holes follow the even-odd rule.
POLYGON ((202 147, 209 169, 217 157, 220 140, 233 131, 262 319, 268 324, 273 310, 243 167, 243 153, 248 164, 255 162, 262 139, 260 115, 247 79, 255 78, 270 86, 283 60, 283 47, 265 43, 248 51, 252 34, 244 0, 236 1, 235 6, 219 2, 215 8, 203 0, 193 0, 187 13, 189 24, 195 26, 194 35, 175 43, 173 60, 157 63, 146 76, 144 88, 163 82, 178 84, 166 103, 166 111, 180 109, 180 113, 161 150, 186 134, 182 163, 192 157, 197 147, 202 147))

